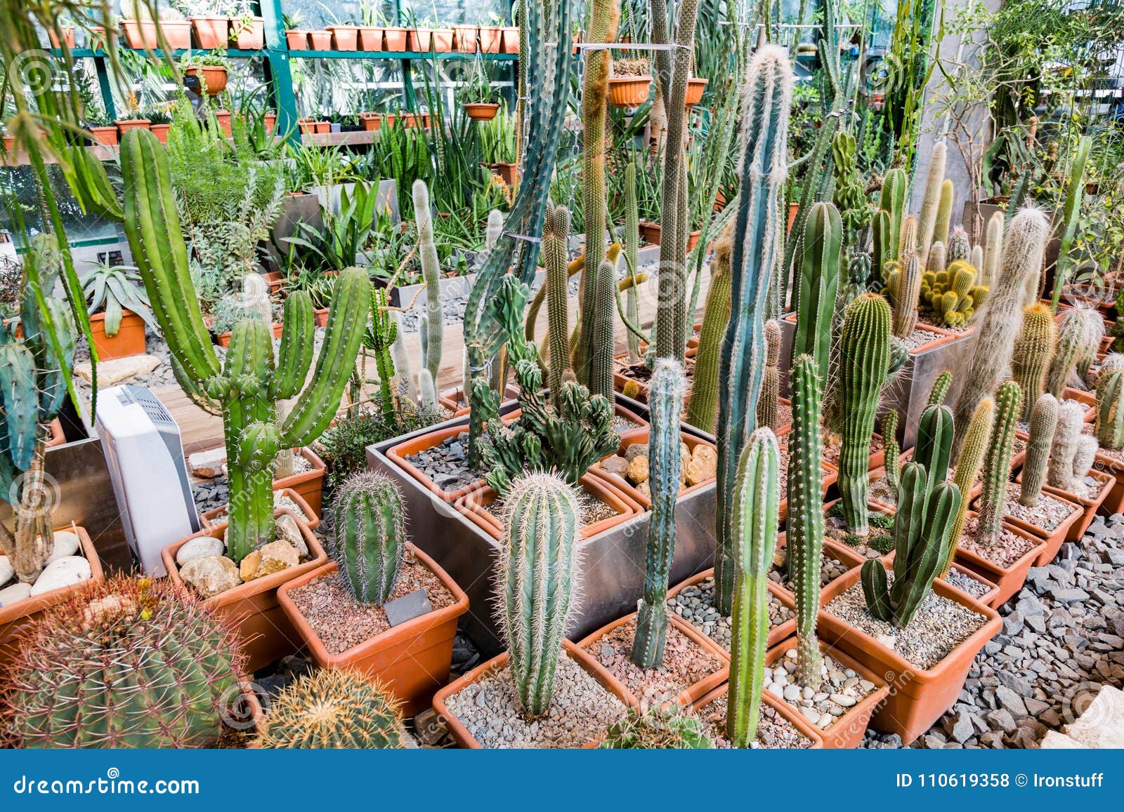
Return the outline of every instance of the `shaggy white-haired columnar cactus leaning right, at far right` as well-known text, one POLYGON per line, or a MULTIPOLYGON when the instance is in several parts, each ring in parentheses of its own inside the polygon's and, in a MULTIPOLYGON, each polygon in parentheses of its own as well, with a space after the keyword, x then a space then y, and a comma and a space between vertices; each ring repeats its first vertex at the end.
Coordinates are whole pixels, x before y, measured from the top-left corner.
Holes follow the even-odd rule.
POLYGON ((1015 337, 1022 327, 1024 282, 1042 264, 1049 230, 1049 222, 1040 209, 1023 209, 1010 221, 1003 249, 1003 268, 978 318, 976 346, 968 358, 963 386, 957 398, 957 426, 967 425, 976 404, 995 391, 1010 363, 1015 337))

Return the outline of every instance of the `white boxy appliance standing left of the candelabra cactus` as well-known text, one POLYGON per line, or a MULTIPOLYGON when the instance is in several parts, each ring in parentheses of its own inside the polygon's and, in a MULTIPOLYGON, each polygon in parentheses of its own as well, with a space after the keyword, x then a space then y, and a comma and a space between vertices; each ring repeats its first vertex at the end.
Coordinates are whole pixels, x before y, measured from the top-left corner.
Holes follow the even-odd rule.
POLYGON ((133 555, 166 575, 160 551, 199 530, 180 427, 144 386, 114 386, 98 393, 97 430, 133 555))

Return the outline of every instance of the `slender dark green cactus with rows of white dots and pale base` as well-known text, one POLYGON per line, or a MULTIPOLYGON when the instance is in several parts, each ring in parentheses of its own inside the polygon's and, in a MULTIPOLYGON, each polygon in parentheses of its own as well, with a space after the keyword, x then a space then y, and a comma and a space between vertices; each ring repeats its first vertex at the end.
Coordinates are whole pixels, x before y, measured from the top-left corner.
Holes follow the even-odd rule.
MULTIPOLYGON (((822 657, 816 639, 816 613, 819 609, 819 559, 824 549, 819 378, 810 355, 801 355, 792 362, 790 374, 792 431, 788 441, 788 571, 796 587, 796 678, 801 686, 818 690, 822 657)), ((873 412, 870 419, 873 425, 873 412)), ((870 430, 867 431, 867 441, 870 441, 870 430)))

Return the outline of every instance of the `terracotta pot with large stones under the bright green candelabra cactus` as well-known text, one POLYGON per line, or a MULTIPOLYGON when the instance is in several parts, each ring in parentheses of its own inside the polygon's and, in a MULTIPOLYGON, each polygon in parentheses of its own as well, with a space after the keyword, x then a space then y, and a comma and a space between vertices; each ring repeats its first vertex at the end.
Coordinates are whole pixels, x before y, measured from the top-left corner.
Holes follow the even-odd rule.
MULTIPOLYGON (((274 516, 282 513, 293 516, 287 510, 274 511, 274 516)), ((293 518, 296 519, 296 517, 293 518)), ((242 647, 247 656, 246 669, 251 672, 279 660, 285 655, 294 654, 300 648, 301 639, 293 630, 285 613, 281 611, 277 591, 282 584, 312 572, 328 560, 328 554, 320 547, 308 526, 299 520, 297 524, 305 537, 305 544, 308 545, 310 560, 241 584, 202 602, 205 606, 229 619, 232 628, 242 640, 242 647)), ((180 569, 175 564, 175 554, 180 547, 199 536, 223 538, 225 532, 226 522, 212 524, 161 550, 160 555, 167 569, 167 577, 178 584, 183 584, 180 569)))

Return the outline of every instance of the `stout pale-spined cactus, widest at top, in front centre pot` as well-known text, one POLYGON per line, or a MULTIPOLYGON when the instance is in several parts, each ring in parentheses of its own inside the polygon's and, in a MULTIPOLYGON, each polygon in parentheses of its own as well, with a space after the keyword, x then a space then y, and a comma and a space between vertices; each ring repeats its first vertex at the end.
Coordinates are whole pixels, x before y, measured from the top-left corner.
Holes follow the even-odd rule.
POLYGON ((499 620, 511 676, 529 717, 550 710, 562 638, 578 584, 578 498, 553 474, 529 474, 504 504, 499 620))

